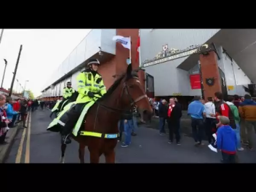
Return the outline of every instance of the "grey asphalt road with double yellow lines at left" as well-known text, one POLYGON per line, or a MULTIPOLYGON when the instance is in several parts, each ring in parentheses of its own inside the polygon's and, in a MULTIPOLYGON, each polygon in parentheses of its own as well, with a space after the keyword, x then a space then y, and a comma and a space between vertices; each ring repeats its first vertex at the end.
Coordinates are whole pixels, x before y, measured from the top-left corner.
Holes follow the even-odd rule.
MULTIPOLYGON (((46 131, 51 119, 50 111, 38 109, 31 114, 28 128, 20 129, 6 163, 58 163, 61 155, 60 135, 46 131), (24 132, 26 130, 26 132, 24 132)), ((156 129, 140 126, 131 145, 116 147, 116 163, 219 163, 220 153, 207 145, 195 147, 191 137, 182 136, 181 145, 167 143, 168 136, 160 136, 156 129)), ((206 143, 207 144, 207 143, 206 143)), ((85 161, 89 163, 86 149, 85 161)), ((241 163, 256 163, 256 151, 239 152, 241 163)), ((104 163, 102 156, 100 162, 104 163)), ((78 143, 68 145, 65 163, 79 163, 78 143)))

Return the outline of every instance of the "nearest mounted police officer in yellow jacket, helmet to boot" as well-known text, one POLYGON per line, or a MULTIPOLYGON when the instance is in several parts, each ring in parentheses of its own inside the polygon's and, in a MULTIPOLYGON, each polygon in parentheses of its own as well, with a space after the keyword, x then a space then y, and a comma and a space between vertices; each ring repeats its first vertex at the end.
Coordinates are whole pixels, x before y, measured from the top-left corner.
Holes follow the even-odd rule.
POLYGON ((69 134, 79 119, 81 111, 85 106, 84 104, 95 98, 95 95, 101 97, 106 93, 102 76, 97 72, 100 65, 98 59, 90 59, 87 65, 89 68, 77 76, 79 96, 76 99, 76 105, 60 118, 61 122, 64 123, 63 130, 61 131, 63 134, 62 143, 64 144, 71 143, 69 134))

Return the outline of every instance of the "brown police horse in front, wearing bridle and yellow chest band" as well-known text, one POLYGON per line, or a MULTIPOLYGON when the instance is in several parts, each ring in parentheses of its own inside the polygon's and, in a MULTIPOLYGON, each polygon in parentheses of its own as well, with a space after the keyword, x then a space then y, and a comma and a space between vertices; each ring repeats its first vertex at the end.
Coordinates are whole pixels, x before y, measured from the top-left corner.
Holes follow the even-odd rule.
MULTIPOLYGON (((84 119, 84 127, 80 131, 91 131, 105 134, 118 133, 118 121, 125 114, 131 113, 137 105, 140 113, 152 115, 152 109, 145 94, 144 87, 137 76, 138 70, 132 70, 128 65, 126 73, 121 75, 107 93, 98 99, 88 110, 84 119)), ((83 126, 83 125, 82 125, 83 126)), ((99 163, 99 157, 104 154, 106 163, 115 163, 115 147, 117 138, 73 136, 79 143, 80 163, 84 163, 84 148, 90 151, 90 163, 99 163)), ((64 163, 66 144, 61 145, 61 163, 64 163)))

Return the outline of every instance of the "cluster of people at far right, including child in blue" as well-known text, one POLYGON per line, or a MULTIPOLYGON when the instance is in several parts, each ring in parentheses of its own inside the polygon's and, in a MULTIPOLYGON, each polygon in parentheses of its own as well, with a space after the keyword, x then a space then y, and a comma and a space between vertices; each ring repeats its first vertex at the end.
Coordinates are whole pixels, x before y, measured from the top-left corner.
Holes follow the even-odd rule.
POLYGON ((206 103, 195 97, 189 104, 188 114, 192 120, 195 145, 203 144, 205 133, 209 148, 221 151, 223 163, 237 163, 237 151, 243 151, 243 146, 254 151, 256 102, 249 94, 228 96, 224 101, 223 94, 216 92, 215 97, 208 97, 206 103))

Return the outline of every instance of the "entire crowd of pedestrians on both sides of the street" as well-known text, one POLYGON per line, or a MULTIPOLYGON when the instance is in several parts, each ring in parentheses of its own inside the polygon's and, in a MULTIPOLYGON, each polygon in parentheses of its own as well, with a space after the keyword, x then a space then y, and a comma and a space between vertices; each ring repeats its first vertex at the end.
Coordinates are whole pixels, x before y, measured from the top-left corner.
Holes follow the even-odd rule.
MULTIPOLYGON (((155 108, 156 116, 159 116, 159 134, 169 134, 168 143, 180 145, 180 119, 182 107, 177 98, 172 97, 169 103, 165 99, 160 102, 150 101, 152 108, 155 108), (167 122, 169 132, 165 130, 167 122)), ((19 122, 23 122, 26 128, 26 116, 28 111, 35 111, 38 106, 53 108, 54 101, 38 101, 17 99, 0 95, 0 144, 6 144, 6 133, 19 122)), ((207 102, 199 96, 195 96, 188 106, 188 115, 191 116, 192 135, 195 145, 204 145, 203 138, 206 136, 209 145, 221 151, 223 163, 236 163, 237 151, 243 151, 247 146, 254 151, 254 134, 256 133, 256 102, 250 95, 244 97, 238 95, 228 96, 226 101, 220 92, 216 92, 214 98, 208 97, 207 102)), ((137 118, 139 117, 137 107, 131 114, 123 116, 118 123, 119 138, 122 140, 122 133, 125 134, 122 147, 131 144, 131 136, 136 136, 138 128, 137 118)), ((144 123, 143 121, 141 121, 144 123)), ((210 148, 210 147, 209 147, 210 148)))

